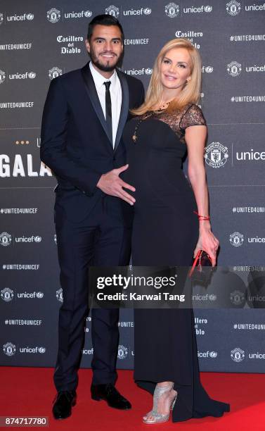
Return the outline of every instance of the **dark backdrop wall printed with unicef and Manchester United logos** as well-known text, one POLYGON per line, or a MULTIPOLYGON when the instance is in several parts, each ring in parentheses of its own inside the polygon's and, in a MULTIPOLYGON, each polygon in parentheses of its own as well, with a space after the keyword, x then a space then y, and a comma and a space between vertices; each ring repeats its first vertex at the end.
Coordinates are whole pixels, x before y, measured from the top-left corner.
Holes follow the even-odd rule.
MULTIPOLYGON (((212 229, 221 244, 219 266, 236 271, 230 307, 216 307, 216 294, 195 288, 200 369, 264 373, 265 4, 259 0, 1 1, 0 364, 55 365, 63 292, 56 180, 39 159, 41 114, 51 80, 88 61, 87 25, 100 13, 119 18, 123 70, 145 86, 169 39, 187 37, 200 50, 212 229), (245 297, 251 277, 259 308, 245 297)), ((131 310, 121 310, 119 328, 117 368, 133 368, 131 310)), ((88 316, 82 367, 93 354, 90 329, 88 316)))

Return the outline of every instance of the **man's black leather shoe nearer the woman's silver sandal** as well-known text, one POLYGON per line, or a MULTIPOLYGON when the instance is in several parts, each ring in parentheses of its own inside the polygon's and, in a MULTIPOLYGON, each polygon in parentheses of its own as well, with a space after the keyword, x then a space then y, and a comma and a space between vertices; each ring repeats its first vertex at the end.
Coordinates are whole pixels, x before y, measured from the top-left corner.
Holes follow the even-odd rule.
POLYGON ((91 385, 91 398, 96 401, 105 399, 108 405, 113 408, 119 408, 120 410, 129 410, 131 403, 124 398, 115 386, 111 385, 91 385))

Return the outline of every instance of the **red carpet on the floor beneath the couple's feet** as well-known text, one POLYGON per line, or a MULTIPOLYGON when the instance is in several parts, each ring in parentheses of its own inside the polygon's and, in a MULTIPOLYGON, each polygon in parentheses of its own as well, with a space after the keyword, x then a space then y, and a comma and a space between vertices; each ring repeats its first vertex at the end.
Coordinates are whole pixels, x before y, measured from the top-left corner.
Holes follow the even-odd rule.
POLYGON ((184 423, 144 425, 141 416, 150 410, 152 397, 138 389, 131 371, 119 371, 117 388, 133 404, 131 411, 109 408, 90 398, 91 370, 79 370, 77 405, 66 420, 53 420, 51 401, 56 395, 52 368, 1 367, 0 416, 49 416, 49 430, 64 431, 245 431, 265 430, 265 375, 201 373, 202 384, 214 399, 231 404, 222 418, 191 419, 184 423))

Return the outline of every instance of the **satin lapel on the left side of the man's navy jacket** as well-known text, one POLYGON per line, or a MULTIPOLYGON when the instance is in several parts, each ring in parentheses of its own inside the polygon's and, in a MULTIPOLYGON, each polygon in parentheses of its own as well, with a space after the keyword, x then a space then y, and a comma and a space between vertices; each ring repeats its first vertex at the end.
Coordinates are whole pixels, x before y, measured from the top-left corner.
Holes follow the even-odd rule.
POLYGON ((110 145, 112 147, 112 137, 110 137, 108 133, 107 124, 105 122, 104 113, 101 108, 101 102, 98 99, 98 93, 96 91, 96 86, 93 82, 93 77, 91 75, 91 71, 89 68, 89 63, 87 63, 84 68, 82 68, 82 77, 84 78, 84 83, 86 86, 86 92, 89 95, 89 99, 91 101, 91 104, 96 112, 96 115, 98 115, 98 120, 100 120, 101 125, 103 127, 103 130, 105 131, 105 134, 108 136, 108 139, 110 141, 110 145))

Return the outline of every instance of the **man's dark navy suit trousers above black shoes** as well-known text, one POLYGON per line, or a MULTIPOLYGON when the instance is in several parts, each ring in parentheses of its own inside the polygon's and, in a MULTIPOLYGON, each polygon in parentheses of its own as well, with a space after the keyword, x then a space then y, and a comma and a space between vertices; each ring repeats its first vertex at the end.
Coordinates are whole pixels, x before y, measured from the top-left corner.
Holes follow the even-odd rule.
MULTIPOLYGON (((53 380, 58 391, 76 389, 89 313, 89 266, 127 266, 131 226, 125 223, 122 203, 103 195, 82 223, 67 219, 55 206, 60 285, 63 304, 58 320, 58 356, 53 380)), ((115 384, 119 343, 119 309, 91 310, 94 385, 115 384)))

